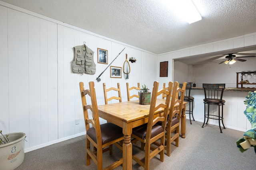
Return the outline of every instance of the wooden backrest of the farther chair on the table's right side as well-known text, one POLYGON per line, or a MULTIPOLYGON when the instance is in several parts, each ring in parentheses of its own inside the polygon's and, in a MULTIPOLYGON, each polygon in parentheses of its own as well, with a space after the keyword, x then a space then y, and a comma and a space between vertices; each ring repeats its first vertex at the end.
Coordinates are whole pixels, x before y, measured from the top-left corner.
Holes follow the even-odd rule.
MULTIPOLYGON (((177 117, 177 119, 180 120, 180 116, 181 116, 181 112, 182 112, 182 105, 184 102, 184 96, 185 96, 185 92, 186 92, 186 84, 187 84, 187 82, 183 82, 182 88, 180 88, 179 83, 174 82, 172 96, 175 96, 175 97, 172 97, 172 100, 171 100, 168 124, 169 124, 169 121, 172 122, 173 117, 177 117), (178 97, 179 95, 180 95, 180 97, 178 97), (174 109, 174 107, 176 105, 178 105, 178 107, 176 107, 176 109, 174 109)), ((171 123, 169 125, 171 125, 171 123)))

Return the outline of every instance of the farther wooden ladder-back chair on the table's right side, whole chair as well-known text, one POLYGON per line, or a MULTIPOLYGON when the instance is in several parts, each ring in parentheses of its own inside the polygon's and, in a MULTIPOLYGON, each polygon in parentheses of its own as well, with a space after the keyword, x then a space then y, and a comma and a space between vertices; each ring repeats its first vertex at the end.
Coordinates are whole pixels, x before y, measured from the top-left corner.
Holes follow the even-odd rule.
POLYGON ((179 147, 179 138, 180 138, 180 116, 182 113, 182 105, 184 102, 185 90, 187 82, 183 82, 182 88, 179 87, 178 82, 174 82, 172 90, 172 100, 170 104, 170 112, 167 120, 166 126, 166 155, 171 155, 171 143, 175 141, 175 146, 179 147), (180 96, 180 97, 177 97, 180 96), (177 106, 174 108, 175 106, 177 106), (172 132, 175 132, 172 135, 172 132))

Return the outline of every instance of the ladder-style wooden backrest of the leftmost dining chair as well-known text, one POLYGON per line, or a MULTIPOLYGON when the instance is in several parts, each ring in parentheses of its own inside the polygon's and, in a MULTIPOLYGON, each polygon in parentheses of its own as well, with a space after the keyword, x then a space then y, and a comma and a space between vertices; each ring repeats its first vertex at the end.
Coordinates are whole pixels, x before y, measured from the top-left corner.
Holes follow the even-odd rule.
POLYGON ((89 82, 89 88, 90 90, 86 89, 84 90, 84 83, 80 82, 80 93, 81 93, 81 98, 82 98, 82 106, 83 106, 83 111, 84 111, 84 122, 85 122, 85 128, 86 132, 90 129, 90 124, 92 127, 94 127, 95 132, 96 132, 96 137, 97 137, 97 144, 102 144, 102 136, 101 136, 101 131, 100 131, 100 120, 99 120, 99 115, 98 115, 98 105, 97 105, 97 100, 96 100, 96 93, 95 93, 95 88, 94 88, 94 82, 89 82), (91 105, 88 105, 86 103, 86 94, 90 96, 91 98, 91 105), (89 118, 88 116, 88 109, 92 111, 92 119, 89 118))

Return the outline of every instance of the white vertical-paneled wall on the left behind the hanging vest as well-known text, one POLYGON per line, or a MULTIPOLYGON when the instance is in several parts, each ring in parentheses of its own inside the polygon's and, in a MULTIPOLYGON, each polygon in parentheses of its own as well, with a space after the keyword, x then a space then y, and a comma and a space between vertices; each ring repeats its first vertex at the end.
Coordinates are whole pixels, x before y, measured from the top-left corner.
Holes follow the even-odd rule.
POLYGON ((140 82, 152 89, 157 77, 155 54, 34 16, 32 12, 0 6, 0 37, 0 129, 4 133, 26 133, 25 152, 85 133, 80 81, 85 88, 89 81, 95 82, 101 105, 104 82, 107 87, 119 82, 122 100, 127 101, 126 82, 130 86, 140 82), (71 72, 73 47, 84 42, 94 51, 94 75, 71 72), (125 48, 112 66, 122 67, 126 53, 136 57, 136 63, 130 63, 129 79, 125 80, 123 75, 110 78, 110 67, 97 63, 97 48, 108 50, 108 64, 125 48), (101 82, 97 82, 96 77, 104 70, 101 82), (80 124, 76 125, 76 119, 80 119, 80 124))

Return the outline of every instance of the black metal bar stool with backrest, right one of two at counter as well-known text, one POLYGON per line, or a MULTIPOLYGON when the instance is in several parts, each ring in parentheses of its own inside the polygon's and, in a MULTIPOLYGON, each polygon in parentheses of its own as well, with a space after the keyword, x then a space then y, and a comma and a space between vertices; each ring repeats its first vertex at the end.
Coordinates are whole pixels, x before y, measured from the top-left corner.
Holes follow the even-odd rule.
MULTIPOLYGON (((222 99, 223 91, 225 89, 225 84, 203 84, 204 88, 204 123, 205 118, 207 117, 206 125, 209 119, 219 120, 219 127, 220 127, 220 120, 222 121, 223 128, 226 129, 223 123, 223 106, 225 105, 225 100, 222 99), (206 104, 208 104, 208 114, 206 114, 206 104), (218 115, 209 114, 209 107, 210 105, 217 105, 218 106, 218 115), (220 106, 222 106, 222 113, 220 116, 220 106)), ((202 125, 204 127, 204 124, 202 125)), ((222 133, 220 127, 220 133, 222 133)))

